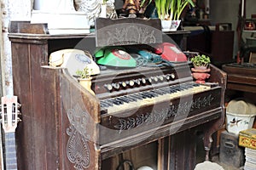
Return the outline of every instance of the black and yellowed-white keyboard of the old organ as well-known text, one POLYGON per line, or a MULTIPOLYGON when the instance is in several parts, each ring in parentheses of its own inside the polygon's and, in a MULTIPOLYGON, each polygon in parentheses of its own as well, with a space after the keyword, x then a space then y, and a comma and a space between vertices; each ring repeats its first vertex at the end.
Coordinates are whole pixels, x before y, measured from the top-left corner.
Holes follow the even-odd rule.
POLYGON ((118 113, 119 111, 134 110, 146 105, 154 105, 158 102, 175 99, 187 94, 196 94, 206 91, 211 87, 195 82, 186 82, 164 88, 152 89, 139 92, 137 94, 127 94, 111 99, 101 100, 101 111, 108 114, 118 113))

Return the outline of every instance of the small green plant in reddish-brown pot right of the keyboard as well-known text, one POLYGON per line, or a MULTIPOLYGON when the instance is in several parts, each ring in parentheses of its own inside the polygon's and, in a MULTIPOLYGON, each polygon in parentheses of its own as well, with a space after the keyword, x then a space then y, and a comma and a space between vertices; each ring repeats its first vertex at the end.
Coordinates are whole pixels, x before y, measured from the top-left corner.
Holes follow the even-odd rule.
POLYGON ((205 83, 206 79, 210 77, 211 70, 208 68, 208 65, 211 63, 209 56, 205 54, 199 54, 190 59, 194 68, 191 68, 192 76, 195 78, 195 82, 205 83))

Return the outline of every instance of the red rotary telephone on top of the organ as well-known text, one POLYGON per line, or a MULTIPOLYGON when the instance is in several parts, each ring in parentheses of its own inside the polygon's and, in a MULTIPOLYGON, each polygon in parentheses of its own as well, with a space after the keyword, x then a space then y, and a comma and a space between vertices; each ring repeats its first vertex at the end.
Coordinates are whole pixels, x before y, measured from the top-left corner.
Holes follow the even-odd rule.
POLYGON ((188 61, 187 56, 183 54, 176 45, 170 42, 163 42, 159 44, 155 49, 155 54, 160 54, 162 59, 166 59, 171 62, 188 61))

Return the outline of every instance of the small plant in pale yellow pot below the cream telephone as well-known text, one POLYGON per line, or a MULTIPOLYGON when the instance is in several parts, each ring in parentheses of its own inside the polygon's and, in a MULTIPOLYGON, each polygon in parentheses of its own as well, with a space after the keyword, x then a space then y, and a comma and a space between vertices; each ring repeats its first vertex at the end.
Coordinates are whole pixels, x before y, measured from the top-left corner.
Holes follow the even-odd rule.
POLYGON ((95 95, 95 93, 91 90, 91 75, 92 75, 92 69, 90 69, 88 66, 85 66, 82 71, 78 70, 76 71, 77 76, 79 77, 79 83, 87 89, 90 94, 95 95))

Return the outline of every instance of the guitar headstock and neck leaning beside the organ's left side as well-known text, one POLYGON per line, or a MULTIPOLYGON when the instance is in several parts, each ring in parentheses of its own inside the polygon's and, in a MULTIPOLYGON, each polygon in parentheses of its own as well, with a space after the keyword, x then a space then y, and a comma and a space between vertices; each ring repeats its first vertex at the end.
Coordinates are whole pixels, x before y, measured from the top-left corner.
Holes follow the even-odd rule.
POLYGON ((15 170, 17 167, 15 129, 17 122, 20 121, 18 114, 20 104, 17 102, 17 96, 2 97, 2 125, 4 130, 4 151, 3 160, 6 170, 15 170))

